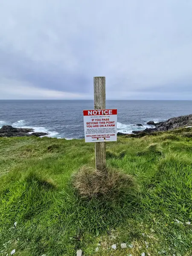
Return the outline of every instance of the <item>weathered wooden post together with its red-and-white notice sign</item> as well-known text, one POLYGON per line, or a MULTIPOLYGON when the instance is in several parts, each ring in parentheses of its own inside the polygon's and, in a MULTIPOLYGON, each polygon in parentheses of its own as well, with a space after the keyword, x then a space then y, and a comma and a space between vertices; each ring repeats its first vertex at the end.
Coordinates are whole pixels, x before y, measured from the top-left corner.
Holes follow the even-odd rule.
POLYGON ((95 142, 96 169, 106 168, 106 143, 117 140, 117 110, 106 109, 105 77, 94 77, 94 109, 84 110, 85 142, 95 142))

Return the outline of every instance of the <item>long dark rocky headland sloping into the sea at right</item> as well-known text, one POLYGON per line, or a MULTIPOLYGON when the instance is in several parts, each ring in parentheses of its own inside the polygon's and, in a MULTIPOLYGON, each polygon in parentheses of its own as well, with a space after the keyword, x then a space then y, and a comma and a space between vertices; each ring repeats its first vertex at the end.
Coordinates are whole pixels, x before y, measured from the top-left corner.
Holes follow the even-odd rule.
POLYGON ((146 128, 144 131, 133 131, 133 133, 139 134, 141 132, 145 132, 148 134, 155 131, 169 131, 169 130, 174 130, 175 128, 190 126, 192 125, 192 114, 186 115, 186 116, 173 117, 164 122, 154 123, 154 125, 155 125, 155 128, 146 128))

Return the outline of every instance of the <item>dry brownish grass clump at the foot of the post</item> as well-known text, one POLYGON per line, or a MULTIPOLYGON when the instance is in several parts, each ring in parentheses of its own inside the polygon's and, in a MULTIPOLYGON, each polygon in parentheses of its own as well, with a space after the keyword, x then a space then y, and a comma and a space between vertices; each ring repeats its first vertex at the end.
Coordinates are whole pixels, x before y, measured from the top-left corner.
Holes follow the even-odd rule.
POLYGON ((114 198, 131 194, 136 188, 131 175, 115 169, 100 171, 89 166, 82 166, 73 176, 73 186, 81 196, 89 198, 98 196, 114 198))

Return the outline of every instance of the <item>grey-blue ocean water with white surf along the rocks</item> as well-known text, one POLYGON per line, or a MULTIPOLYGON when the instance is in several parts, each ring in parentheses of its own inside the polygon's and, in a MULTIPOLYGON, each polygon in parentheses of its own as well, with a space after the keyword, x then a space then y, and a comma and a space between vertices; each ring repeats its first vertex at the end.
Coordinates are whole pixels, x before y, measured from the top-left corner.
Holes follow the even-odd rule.
MULTIPOLYGON (((93 109, 92 100, 0 100, 0 127, 34 128, 49 137, 83 138, 83 110, 93 109)), ((117 130, 130 134, 160 122, 192 113, 192 101, 108 100, 106 108, 117 108, 117 130), (143 127, 137 126, 142 124, 143 127)))

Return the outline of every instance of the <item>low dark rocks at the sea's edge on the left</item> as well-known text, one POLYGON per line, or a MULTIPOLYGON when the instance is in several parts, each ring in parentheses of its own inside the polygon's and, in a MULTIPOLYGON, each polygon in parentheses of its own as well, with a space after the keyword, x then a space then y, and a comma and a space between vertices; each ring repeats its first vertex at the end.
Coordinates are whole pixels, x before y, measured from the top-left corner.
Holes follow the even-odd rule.
POLYGON ((3 125, 0 128, 0 137, 23 137, 23 136, 44 136, 47 135, 45 132, 33 132, 32 128, 15 128, 11 125, 3 125), (33 132, 29 134, 29 132, 33 132))

